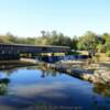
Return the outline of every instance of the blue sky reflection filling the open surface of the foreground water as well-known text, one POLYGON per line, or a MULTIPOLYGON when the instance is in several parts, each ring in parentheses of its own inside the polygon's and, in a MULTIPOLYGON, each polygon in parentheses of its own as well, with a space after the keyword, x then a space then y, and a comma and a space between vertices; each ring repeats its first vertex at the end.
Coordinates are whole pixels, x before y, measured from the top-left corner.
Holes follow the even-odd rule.
POLYGON ((57 106, 81 106, 90 109, 96 99, 105 103, 105 98, 92 92, 91 84, 65 74, 58 73, 56 76, 48 74, 42 78, 41 70, 14 72, 9 77, 11 79, 8 87, 9 96, 6 96, 6 99, 0 98, 1 105, 25 106, 44 101, 57 106))

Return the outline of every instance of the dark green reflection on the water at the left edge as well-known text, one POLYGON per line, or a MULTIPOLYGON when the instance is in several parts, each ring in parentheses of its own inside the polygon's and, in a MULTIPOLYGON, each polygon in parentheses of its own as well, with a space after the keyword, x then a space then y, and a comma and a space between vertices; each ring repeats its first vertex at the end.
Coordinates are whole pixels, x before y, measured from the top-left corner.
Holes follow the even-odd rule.
POLYGON ((8 78, 0 79, 0 96, 3 96, 8 92, 8 84, 10 80, 8 78))

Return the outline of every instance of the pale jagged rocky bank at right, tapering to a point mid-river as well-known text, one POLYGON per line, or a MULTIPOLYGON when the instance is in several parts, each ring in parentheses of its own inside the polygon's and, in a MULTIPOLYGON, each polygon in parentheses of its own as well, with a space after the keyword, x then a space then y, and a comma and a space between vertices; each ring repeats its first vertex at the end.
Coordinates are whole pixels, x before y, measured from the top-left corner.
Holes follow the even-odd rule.
MULTIPOLYGON (((76 63, 77 65, 77 63, 76 63)), ((94 65, 94 64, 92 64, 94 65)), ((73 66, 67 64, 51 64, 48 65, 50 68, 58 70, 61 73, 67 73, 72 76, 78 77, 84 80, 91 81, 94 84, 102 84, 102 85, 109 85, 110 86, 110 70, 108 70, 106 67, 101 67, 98 64, 95 64, 95 67, 90 69, 86 68, 85 66, 73 66)))

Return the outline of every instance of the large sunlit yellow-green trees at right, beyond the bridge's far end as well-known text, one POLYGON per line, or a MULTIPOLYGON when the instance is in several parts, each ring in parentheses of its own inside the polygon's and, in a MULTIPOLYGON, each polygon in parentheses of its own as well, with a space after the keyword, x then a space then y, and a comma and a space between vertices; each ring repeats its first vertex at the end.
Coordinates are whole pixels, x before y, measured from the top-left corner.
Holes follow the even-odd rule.
POLYGON ((110 34, 96 34, 91 31, 78 37, 77 50, 96 51, 110 56, 110 34))

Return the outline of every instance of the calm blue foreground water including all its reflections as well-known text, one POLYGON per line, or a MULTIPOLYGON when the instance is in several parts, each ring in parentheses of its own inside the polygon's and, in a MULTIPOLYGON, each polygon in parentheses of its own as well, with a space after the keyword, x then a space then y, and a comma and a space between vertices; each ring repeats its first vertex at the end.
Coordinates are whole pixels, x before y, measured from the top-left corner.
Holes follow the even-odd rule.
POLYGON ((110 110, 110 88, 40 66, 6 69, 0 110, 110 110))

